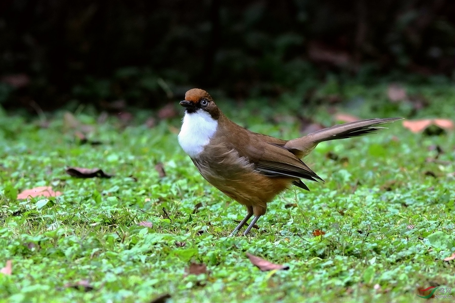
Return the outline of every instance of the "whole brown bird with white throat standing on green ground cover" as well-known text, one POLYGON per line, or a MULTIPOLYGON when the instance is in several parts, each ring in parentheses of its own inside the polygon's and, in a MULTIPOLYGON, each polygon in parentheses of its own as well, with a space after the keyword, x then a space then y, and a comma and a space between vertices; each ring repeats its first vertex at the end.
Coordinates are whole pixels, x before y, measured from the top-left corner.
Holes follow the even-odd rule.
MULTIPOLYGON (((257 134, 229 120, 202 89, 190 89, 180 105, 186 108, 178 142, 210 184, 247 207, 236 234, 254 214, 250 232, 267 203, 291 185, 309 190, 301 179, 322 180, 301 158, 323 141, 357 137, 401 118, 368 119, 334 125, 302 138, 282 140, 257 134)), ((324 180, 322 180, 324 181, 324 180)))

